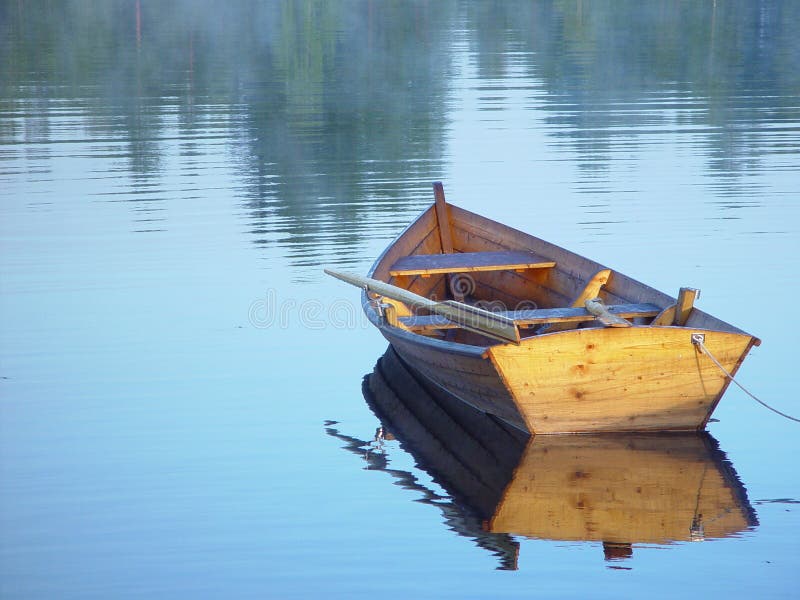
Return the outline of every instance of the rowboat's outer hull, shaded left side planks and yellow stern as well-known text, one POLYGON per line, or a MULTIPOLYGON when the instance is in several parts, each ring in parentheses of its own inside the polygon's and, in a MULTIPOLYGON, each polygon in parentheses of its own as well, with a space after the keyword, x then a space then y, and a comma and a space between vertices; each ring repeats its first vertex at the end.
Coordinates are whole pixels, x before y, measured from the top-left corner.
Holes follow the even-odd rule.
POLYGON ((454 352, 451 344, 381 331, 417 373, 464 402, 534 434, 699 431, 729 383, 691 342, 735 373, 746 334, 680 327, 577 329, 454 352))

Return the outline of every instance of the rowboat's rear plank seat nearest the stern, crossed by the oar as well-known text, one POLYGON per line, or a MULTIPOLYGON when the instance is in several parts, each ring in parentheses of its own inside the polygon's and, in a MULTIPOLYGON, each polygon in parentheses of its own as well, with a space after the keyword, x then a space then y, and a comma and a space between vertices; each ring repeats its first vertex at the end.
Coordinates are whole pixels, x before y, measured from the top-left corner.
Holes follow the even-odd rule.
MULTIPOLYGON (((661 308, 655 304, 614 304, 608 311, 624 319, 636 317, 655 317, 661 308)), ((500 311, 496 313, 513 319, 519 327, 532 327, 543 323, 581 323, 593 321, 596 317, 585 308, 539 308, 536 310, 500 311)), ((414 331, 431 329, 452 329, 457 324, 439 315, 400 317, 399 321, 414 331)))

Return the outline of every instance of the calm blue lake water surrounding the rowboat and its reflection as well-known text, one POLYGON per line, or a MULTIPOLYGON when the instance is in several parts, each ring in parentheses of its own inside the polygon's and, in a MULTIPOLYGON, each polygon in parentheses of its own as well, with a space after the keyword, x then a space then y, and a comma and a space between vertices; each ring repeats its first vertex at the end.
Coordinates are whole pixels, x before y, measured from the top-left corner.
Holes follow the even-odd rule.
POLYGON ((691 536, 484 535, 373 441, 386 343, 322 269, 365 273, 441 180, 701 288, 798 415, 799 27, 778 0, 0 4, 0 596, 796 595, 800 425, 729 389, 697 464, 737 504, 691 536))

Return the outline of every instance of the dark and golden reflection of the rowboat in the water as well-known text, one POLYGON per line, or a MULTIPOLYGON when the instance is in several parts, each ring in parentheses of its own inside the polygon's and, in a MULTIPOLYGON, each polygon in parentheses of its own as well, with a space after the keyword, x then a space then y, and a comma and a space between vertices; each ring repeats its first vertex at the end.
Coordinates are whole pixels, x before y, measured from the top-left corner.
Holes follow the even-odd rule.
POLYGON ((634 544, 736 535, 756 515, 725 454, 707 433, 551 435, 526 433, 415 377, 391 347, 364 380, 382 423, 364 442, 330 428, 365 456, 423 493, 448 525, 514 569, 512 536, 602 542, 607 560, 634 544), (450 495, 442 498, 380 451, 395 436, 450 495))

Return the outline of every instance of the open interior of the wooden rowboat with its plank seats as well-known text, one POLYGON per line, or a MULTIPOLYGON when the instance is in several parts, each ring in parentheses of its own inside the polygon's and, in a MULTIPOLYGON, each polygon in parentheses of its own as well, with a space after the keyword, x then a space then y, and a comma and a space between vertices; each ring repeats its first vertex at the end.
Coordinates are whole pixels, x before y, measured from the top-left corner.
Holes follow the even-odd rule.
MULTIPOLYGON (((371 276, 437 302, 483 309, 524 339, 586 327, 689 326, 738 330, 694 308, 699 290, 672 298, 573 252, 445 202, 435 203, 378 260, 371 276), (597 299, 596 310, 587 301, 597 299)), ((382 297, 390 325, 470 345, 497 339, 382 297)), ((466 310, 466 309, 465 309, 466 310)))

